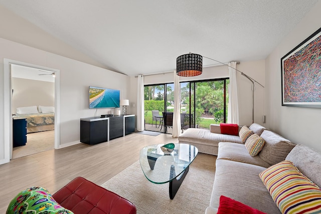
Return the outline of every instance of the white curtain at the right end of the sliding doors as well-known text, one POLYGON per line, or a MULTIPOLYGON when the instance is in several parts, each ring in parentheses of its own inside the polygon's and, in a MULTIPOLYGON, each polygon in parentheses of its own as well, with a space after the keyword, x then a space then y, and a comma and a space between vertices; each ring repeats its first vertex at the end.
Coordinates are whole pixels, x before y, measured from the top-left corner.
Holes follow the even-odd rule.
POLYGON ((239 124, 239 102, 237 98, 236 84, 236 61, 229 62, 230 86, 229 86, 229 105, 228 105, 228 123, 239 124))

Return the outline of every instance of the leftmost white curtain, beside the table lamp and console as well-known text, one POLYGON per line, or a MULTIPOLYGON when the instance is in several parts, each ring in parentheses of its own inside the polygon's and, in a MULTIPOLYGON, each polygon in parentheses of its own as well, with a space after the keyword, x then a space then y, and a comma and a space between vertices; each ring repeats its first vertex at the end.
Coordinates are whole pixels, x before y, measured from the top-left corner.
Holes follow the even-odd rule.
POLYGON ((137 131, 145 129, 145 114, 144 114, 144 77, 138 75, 137 84, 137 131))

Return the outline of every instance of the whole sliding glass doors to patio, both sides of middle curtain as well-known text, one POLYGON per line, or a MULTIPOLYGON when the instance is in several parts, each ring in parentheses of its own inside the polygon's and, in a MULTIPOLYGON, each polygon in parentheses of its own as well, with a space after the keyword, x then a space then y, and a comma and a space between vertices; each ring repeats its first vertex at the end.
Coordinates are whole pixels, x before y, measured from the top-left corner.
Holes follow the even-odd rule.
MULTIPOLYGON (((181 82, 182 131, 227 121, 229 78, 181 82)), ((144 86, 145 130, 173 132, 174 83, 144 86)))

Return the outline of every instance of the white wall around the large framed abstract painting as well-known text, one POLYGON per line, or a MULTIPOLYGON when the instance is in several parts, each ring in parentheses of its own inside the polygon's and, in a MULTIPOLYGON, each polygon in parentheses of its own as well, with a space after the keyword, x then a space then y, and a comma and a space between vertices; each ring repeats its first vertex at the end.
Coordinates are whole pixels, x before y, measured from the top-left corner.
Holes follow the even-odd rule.
POLYGON ((321 1, 266 58, 266 121, 268 127, 294 143, 321 151, 321 108, 281 106, 280 59, 321 26, 321 1))

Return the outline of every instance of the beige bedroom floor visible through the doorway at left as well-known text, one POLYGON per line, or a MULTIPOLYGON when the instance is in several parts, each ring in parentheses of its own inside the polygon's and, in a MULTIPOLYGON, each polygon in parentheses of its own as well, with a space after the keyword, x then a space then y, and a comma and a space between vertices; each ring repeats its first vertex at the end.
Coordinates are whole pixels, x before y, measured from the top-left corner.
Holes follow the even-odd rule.
POLYGON ((55 130, 27 134, 26 145, 14 147, 12 158, 27 156, 55 148, 55 130))

